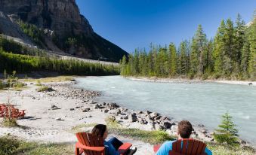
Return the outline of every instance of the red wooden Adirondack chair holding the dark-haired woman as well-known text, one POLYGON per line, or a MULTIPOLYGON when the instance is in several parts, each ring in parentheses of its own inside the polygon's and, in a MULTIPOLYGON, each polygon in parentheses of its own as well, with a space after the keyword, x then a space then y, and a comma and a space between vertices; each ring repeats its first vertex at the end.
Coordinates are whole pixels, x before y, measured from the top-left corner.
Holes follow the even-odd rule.
MULTIPOLYGON (((76 133, 76 138, 79 140, 76 143, 76 155, 81 155, 82 153, 85 153, 85 155, 105 155, 103 138, 87 132, 76 133)), ((120 154, 125 155, 130 147, 130 143, 125 143, 119 147, 118 151, 120 154)))

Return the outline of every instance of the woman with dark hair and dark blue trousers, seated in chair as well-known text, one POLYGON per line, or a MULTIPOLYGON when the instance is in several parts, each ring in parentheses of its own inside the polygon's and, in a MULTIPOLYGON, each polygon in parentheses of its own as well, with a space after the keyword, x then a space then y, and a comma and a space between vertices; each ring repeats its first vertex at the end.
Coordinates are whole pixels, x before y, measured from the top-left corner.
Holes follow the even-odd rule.
MULTIPOLYGON (((104 146, 106 147, 106 155, 120 155, 118 149, 123 143, 122 141, 119 141, 119 139, 116 137, 110 138, 108 141, 106 141, 106 137, 108 135, 106 125, 97 124, 96 126, 94 126, 94 129, 91 130, 91 133, 93 135, 103 138, 104 146)), ((128 150, 128 155, 134 154, 136 150, 136 147, 130 148, 130 150, 128 150)))

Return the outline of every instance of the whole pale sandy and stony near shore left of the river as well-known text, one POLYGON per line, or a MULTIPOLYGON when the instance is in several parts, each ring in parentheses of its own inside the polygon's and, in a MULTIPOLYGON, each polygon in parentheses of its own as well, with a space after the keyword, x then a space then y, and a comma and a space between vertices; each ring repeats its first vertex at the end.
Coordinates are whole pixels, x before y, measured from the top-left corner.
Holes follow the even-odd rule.
MULTIPOLYGON (((100 92, 76 87, 76 81, 42 83, 54 89, 53 92, 37 92, 35 83, 27 82, 28 88, 20 93, 11 91, 11 101, 20 109, 26 109, 26 116, 20 119, 21 126, 28 129, 5 128, 0 126, 0 135, 17 135, 28 141, 69 142, 74 143, 76 136, 69 132, 75 126, 88 123, 103 123, 106 117, 115 117, 125 128, 143 130, 165 129, 169 135, 177 132, 177 121, 153 111, 135 111, 121 107, 116 103, 94 102, 100 92), (57 109, 52 108, 57 106, 57 109), (57 120, 60 118, 60 120, 57 120)), ((7 94, 0 92, 0 102, 6 102, 7 94)), ((193 123, 193 122, 191 122, 193 123)), ((212 132, 203 124, 193 124, 193 138, 213 141, 212 132)), ((85 128, 86 130, 91 128, 85 128)), ((148 150, 153 154, 153 145, 128 138, 138 144, 138 150, 148 150), (144 146, 145 145, 145 146, 144 146)), ((245 141, 243 141, 244 143, 245 141)), ((243 144, 251 146, 248 142, 243 144)))

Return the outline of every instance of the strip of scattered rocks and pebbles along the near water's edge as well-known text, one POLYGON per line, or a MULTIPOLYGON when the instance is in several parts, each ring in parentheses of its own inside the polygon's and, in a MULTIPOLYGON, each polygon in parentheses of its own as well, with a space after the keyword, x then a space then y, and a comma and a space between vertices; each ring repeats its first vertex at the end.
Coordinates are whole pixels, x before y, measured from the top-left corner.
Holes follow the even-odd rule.
MULTIPOLYGON (((100 92, 88 91, 76 88, 74 83, 70 84, 46 84, 52 87, 54 92, 48 92, 48 96, 63 96, 66 99, 81 99, 85 105, 90 105, 91 108, 82 108, 83 112, 97 111, 108 116, 114 117, 122 126, 126 128, 139 128, 144 130, 165 130, 170 135, 176 135, 177 121, 173 118, 163 116, 154 111, 134 111, 132 109, 124 108, 116 103, 109 102, 94 102, 93 97, 100 96, 100 92)), ((72 110, 74 108, 70 108, 72 110)), ((193 125, 193 138, 199 138, 203 141, 213 141, 211 131, 205 129, 203 124, 193 125)))

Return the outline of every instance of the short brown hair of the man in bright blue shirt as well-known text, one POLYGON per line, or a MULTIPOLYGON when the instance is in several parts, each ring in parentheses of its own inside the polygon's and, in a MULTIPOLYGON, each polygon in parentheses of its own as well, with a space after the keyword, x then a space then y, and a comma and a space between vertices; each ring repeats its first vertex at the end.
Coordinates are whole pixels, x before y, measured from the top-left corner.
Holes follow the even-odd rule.
POLYGON ((177 129, 181 138, 190 138, 193 127, 189 121, 182 120, 178 123, 177 129))

